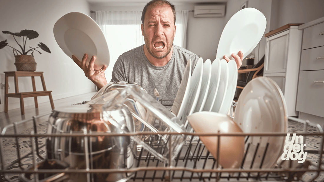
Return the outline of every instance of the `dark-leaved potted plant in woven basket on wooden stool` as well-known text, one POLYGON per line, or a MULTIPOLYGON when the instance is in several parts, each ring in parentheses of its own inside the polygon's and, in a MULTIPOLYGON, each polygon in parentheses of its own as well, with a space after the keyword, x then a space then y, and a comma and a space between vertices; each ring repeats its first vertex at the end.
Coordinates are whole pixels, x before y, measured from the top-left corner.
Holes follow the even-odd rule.
POLYGON ((50 49, 43 43, 40 42, 40 44, 37 44, 38 47, 36 48, 32 48, 32 47, 28 47, 26 48, 26 42, 27 42, 27 38, 28 39, 33 39, 38 37, 38 33, 34 30, 21 30, 18 33, 12 33, 9 31, 2 31, 2 33, 4 34, 10 34, 14 37, 16 43, 18 44, 18 46, 20 47, 21 50, 18 50, 16 48, 13 48, 11 46, 8 45, 7 40, 1 41, 0 42, 0 49, 9 46, 11 48, 13 48, 12 52, 14 53, 14 56, 16 58, 15 61, 15 65, 17 68, 17 71, 35 71, 36 70, 36 62, 34 59, 34 51, 37 51, 41 54, 40 51, 36 50, 37 48, 41 48, 42 50, 44 50, 45 52, 49 52, 51 53, 50 49), (17 42, 16 37, 22 37, 22 45, 20 45, 17 42), (17 55, 16 55, 16 54, 17 55), (30 55, 27 55, 28 53, 30 53, 30 55))

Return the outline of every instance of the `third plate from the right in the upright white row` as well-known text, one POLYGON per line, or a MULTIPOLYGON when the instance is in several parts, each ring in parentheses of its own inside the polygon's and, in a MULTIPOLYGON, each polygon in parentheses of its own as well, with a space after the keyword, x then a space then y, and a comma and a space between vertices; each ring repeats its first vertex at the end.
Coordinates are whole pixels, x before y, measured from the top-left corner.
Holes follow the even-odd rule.
POLYGON ((212 63, 212 74, 208 89, 208 96, 203 111, 210 111, 211 106, 214 105, 216 94, 218 91, 219 80, 221 76, 221 63, 219 59, 215 59, 212 63))

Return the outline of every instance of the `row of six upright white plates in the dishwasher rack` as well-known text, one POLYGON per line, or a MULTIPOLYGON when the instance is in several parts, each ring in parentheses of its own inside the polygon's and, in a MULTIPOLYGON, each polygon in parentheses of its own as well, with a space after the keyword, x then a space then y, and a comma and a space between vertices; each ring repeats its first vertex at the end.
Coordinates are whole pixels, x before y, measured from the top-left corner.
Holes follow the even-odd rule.
POLYGON ((190 76, 191 60, 188 61, 183 79, 171 112, 185 123, 187 116, 199 111, 227 114, 234 98, 237 84, 235 60, 200 58, 190 76))

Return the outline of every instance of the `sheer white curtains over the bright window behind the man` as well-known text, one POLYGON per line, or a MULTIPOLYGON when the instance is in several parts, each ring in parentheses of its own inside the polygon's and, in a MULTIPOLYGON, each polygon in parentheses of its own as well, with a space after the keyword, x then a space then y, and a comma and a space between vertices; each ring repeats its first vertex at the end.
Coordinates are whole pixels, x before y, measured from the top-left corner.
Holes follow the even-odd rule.
MULTIPOLYGON (((177 31, 173 43, 187 48, 188 10, 176 10, 177 31)), ((141 31, 142 11, 96 11, 96 22, 106 37, 110 64, 105 71, 107 81, 118 57, 133 48, 143 45, 141 31)))

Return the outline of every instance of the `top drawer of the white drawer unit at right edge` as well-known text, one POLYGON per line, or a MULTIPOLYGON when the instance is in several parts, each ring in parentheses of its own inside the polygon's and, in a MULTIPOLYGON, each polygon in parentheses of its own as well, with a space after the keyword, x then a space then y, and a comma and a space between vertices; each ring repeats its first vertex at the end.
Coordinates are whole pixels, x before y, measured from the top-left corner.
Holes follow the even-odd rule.
POLYGON ((324 22, 305 28, 302 49, 324 46, 324 22))

